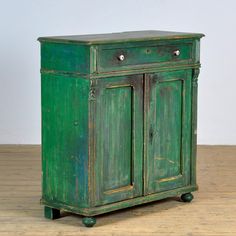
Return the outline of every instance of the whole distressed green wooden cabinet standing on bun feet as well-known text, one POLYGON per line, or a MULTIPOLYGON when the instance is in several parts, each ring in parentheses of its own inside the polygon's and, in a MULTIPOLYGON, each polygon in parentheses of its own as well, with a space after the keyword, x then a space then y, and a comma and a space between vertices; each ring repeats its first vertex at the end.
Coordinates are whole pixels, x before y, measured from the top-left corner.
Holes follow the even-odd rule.
POLYGON ((202 34, 138 31, 43 37, 42 204, 94 216, 196 184, 202 34))

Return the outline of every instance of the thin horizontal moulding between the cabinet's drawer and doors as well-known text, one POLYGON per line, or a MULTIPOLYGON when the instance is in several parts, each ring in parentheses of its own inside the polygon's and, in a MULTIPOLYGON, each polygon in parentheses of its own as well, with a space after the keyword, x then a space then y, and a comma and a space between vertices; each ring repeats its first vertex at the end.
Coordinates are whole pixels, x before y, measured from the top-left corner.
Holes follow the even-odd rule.
POLYGON ((102 79, 107 77, 113 77, 113 76, 123 76, 123 75, 130 75, 130 74, 144 74, 144 73, 154 73, 154 72, 161 72, 161 71, 174 71, 174 70, 182 70, 182 69, 195 69, 200 68, 201 64, 177 64, 177 65, 161 65, 158 66, 147 66, 146 68, 140 67, 140 68, 128 68, 127 70, 116 70, 116 71, 108 71, 108 72, 101 72, 101 73, 93 73, 93 74, 81 74, 77 72, 67 72, 67 71, 56 71, 56 70, 47 70, 47 69, 41 69, 41 74, 55 74, 55 75, 63 75, 68 77, 82 77, 82 79, 102 79))

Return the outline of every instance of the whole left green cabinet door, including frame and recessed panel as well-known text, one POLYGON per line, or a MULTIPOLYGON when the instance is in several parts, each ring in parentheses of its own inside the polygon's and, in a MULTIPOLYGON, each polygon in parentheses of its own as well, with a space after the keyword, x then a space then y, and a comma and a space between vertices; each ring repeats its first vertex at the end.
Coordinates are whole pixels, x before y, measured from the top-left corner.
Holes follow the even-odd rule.
POLYGON ((143 75, 97 80, 95 204, 142 195, 143 75))

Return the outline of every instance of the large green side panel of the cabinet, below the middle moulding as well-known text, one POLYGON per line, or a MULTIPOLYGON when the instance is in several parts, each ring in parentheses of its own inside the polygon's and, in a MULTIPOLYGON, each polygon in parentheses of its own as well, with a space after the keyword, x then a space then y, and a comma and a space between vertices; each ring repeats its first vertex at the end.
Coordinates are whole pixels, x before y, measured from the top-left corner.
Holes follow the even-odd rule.
POLYGON ((42 74, 43 199, 88 205, 88 90, 82 78, 42 74))

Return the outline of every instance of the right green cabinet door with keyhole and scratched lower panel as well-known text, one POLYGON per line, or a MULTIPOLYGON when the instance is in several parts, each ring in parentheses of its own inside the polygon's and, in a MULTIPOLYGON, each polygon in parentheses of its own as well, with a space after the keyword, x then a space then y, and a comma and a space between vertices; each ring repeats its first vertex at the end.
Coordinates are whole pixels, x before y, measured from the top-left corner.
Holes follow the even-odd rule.
POLYGON ((192 70, 145 75, 145 194, 190 183, 192 70))

